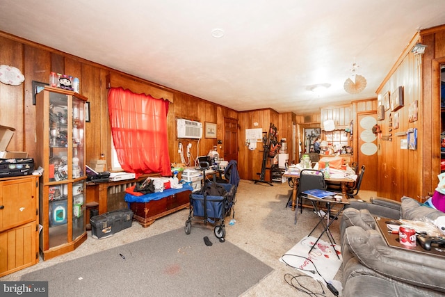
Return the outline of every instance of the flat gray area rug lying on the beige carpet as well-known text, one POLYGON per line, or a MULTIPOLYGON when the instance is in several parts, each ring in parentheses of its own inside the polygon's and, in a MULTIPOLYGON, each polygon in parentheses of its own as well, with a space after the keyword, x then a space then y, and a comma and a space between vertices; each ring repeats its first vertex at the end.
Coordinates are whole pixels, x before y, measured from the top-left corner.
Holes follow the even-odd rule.
POLYGON ((234 244, 220 243, 213 228, 192 224, 188 235, 179 228, 33 271, 22 280, 47 280, 49 296, 239 296, 271 271, 234 244))

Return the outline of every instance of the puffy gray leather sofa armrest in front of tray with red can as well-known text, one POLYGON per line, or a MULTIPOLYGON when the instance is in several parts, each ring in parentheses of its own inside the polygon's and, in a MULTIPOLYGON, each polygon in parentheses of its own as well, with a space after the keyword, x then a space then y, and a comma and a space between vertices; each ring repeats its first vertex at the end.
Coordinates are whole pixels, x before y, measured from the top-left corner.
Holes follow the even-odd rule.
POLYGON ((391 248, 378 230, 351 226, 344 236, 343 242, 362 265, 387 278, 445 292, 445 257, 391 248))

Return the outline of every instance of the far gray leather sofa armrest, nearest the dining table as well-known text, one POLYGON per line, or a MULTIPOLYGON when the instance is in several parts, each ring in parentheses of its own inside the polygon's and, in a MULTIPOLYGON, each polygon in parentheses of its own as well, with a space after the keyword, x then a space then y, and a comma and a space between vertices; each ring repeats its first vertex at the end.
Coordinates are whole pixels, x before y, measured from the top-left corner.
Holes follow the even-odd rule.
POLYGON ((381 216, 383 218, 393 218, 398 220, 401 218, 401 202, 382 197, 370 199, 370 202, 350 199, 346 208, 368 209, 373 216, 381 216))

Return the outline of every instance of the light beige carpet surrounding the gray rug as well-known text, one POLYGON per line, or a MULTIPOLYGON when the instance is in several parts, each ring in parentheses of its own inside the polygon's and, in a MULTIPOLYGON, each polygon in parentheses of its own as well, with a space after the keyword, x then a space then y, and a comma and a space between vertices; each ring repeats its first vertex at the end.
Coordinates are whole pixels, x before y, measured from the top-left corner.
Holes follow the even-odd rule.
MULTIPOLYGON (((236 223, 234 225, 226 224, 226 239, 274 269, 272 273, 250 288, 243 296, 307 296, 307 294, 302 294, 291 287, 284 280, 286 273, 292 275, 302 275, 303 273, 277 260, 304 236, 307 236, 318 221, 312 209, 303 209, 302 214, 298 214, 297 225, 294 225, 294 212, 285 208, 290 194, 291 188, 287 184, 269 186, 268 184, 254 184, 252 181, 242 180, 238 186, 234 207, 236 223)), ((129 229, 122 230, 107 239, 93 239, 88 232, 86 242, 73 252, 45 262, 40 261, 35 266, 6 275, 0 278, 0 281, 20 280, 22 275, 31 271, 184 227, 187 218, 188 209, 183 209, 156 220, 147 228, 133 222, 129 229)), ((331 231, 338 243, 338 220, 332 224, 331 231)), ((321 232, 321 230, 317 230, 317 232, 321 232)), ((318 236, 318 234, 316 235, 318 236)), ((208 228, 207 236, 212 241, 216 241, 216 237, 213 236, 213 228, 208 228)), ((325 236, 322 239, 327 241, 325 236)), ((341 280, 341 269, 334 280, 341 280)), ((312 278, 302 279, 301 282, 314 289, 319 287, 316 280, 312 278)), ((327 296, 330 296, 330 294, 330 291, 327 290, 327 296)))

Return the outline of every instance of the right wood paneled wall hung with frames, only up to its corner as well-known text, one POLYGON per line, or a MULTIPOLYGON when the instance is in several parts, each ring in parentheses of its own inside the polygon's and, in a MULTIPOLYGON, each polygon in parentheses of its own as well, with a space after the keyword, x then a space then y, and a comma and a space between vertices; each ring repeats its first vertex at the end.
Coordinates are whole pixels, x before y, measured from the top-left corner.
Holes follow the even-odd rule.
POLYGON ((391 94, 398 86, 403 86, 404 106, 396 112, 391 109, 385 111, 385 119, 378 122, 382 130, 382 138, 378 139, 378 195, 394 200, 401 200, 403 195, 416 198, 422 191, 423 184, 423 165, 422 153, 424 150, 423 136, 421 129, 421 117, 416 122, 408 121, 409 106, 417 100, 419 102, 419 111, 423 105, 420 96, 420 74, 421 74, 421 56, 407 54, 398 66, 398 69, 391 75, 387 83, 380 89, 379 95, 382 97, 385 93, 391 94), (390 116, 393 119, 394 114, 398 113, 399 127, 394 129, 390 127, 390 116), (407 129, 418 129, 418 148, 417 150, 402 150, 401 139, 407 138, 406 135, 397 136, 398 133, 406 132, 407 129), (389 129, 392 129, 389 131, 389 129), (387 141, 386 137, 392 134, 392 141, 387 141))

